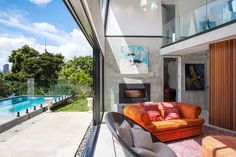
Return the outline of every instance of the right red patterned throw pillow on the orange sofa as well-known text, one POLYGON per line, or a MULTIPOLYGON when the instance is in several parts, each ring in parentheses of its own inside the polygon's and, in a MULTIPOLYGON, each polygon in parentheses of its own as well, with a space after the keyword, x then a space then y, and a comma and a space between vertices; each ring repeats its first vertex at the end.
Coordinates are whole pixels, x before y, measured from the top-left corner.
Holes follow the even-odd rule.
POLYGON ((161 108, 165 120, 180 119, 179 109, 175 103, 162 102, 161 108))

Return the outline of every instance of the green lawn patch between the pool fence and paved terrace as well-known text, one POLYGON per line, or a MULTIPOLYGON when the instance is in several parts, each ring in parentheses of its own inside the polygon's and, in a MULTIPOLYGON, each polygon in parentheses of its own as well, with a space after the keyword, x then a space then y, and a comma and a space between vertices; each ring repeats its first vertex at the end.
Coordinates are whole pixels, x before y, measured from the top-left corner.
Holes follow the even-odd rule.
POLYGON ((89 110, 87 99, 77 99, 55 110, 55 112, 87 112, 89 110))

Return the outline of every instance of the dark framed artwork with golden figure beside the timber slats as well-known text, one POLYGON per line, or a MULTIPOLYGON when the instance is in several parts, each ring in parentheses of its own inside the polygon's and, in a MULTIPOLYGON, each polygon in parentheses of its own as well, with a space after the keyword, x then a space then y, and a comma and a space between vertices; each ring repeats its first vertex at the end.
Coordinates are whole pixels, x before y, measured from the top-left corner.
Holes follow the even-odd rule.
POLYGON ((185 64, 185 90, 205 89, 204 64, 185 64))

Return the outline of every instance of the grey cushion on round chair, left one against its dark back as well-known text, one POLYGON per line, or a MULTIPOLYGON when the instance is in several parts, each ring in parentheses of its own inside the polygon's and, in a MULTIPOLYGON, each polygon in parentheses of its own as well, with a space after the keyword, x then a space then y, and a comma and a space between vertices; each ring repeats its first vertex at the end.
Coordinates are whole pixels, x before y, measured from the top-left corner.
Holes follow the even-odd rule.
POLYGON ((121 139, 128 145, 128 146, 133 146, 133 137, 131 133, 131 127, 129 123, 124 120, 120 127, 117 129, 118 135, 121 137, 121 139))

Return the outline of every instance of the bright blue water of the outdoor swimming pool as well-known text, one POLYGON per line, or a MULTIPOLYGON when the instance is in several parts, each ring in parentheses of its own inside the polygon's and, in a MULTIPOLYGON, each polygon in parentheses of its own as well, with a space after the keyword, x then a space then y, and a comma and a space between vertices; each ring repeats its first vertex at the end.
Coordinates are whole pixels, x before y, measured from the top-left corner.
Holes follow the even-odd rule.
MULTIPOLYGON (((51 96, 50 96, 51 97, 51 96)), ((0 99, 0 115, 19 112, 44 103, 46 96, 18 96, 14 98, 0 99)), ((54 99, 59 96, 53 96, 54 99)))

